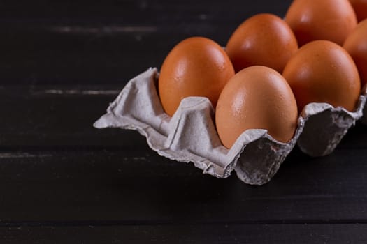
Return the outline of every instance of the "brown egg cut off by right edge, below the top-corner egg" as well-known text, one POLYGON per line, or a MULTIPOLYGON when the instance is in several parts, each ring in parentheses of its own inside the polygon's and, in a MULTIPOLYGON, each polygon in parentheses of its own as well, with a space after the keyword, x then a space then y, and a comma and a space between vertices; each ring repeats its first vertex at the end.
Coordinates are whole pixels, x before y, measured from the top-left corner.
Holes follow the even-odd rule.
POLYGON ((367 83, 367 20, 357 25, 345 40, 343 47, 356 63, 363 87, 367 83))

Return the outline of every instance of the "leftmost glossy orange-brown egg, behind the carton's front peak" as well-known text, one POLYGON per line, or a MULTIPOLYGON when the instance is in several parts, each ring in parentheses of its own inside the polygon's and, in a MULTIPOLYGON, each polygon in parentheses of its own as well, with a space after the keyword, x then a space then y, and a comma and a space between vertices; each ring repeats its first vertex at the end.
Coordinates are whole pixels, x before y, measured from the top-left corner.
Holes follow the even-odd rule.
POLYGON ((182 40, 166 56, 158 88, 164 111, 173 116, 182 98, 204 96, 213 107, 224 85, 234 75, 226 52, 213 40, 192 37, 182 40))

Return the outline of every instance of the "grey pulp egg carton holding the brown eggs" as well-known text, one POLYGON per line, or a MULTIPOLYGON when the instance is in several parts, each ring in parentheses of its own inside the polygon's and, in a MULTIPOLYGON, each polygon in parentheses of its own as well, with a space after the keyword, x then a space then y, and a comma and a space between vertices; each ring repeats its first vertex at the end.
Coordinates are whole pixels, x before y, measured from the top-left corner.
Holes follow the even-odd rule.
POLYGON ((234 170, 241 181, 251 185, 270 181, 296 143, 308 155, 331 153, 361 118, 366 103, 361 96, 355 112, 311 103, 303 109, 288 143, 276 141, 266 130, 246 130, 227 149, 215 130, 214 109, 208 98, 184 98, 170 117, 157 94, 158 77, 157 68, 149 68, 131 79, 94 127, 137 130, 159 155, 193 162, 203 173, 217 178, 226 178, 234 170))

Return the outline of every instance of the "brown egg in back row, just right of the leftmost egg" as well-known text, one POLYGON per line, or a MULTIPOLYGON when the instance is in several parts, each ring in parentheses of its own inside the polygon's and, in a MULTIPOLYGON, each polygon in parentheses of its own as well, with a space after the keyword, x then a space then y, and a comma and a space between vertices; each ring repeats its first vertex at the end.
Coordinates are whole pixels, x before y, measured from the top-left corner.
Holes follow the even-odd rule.
POLYGON ((226 45, 226 53, 238 72, 248 66, 268 66, 282 72, 298 49, 288 24, 271 14, 258 14, 240 24, 226 45))

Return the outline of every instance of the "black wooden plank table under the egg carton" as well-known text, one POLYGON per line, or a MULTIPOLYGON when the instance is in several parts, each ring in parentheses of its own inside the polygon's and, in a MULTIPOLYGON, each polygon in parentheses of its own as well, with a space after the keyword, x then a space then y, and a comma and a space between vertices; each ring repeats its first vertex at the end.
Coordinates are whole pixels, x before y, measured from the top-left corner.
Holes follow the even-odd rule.
POLYGON ((367 127, 261 187, 92 123, 189 36, 221 45, 290 0, 1 1, 0 243, 366 243, 367 127))

